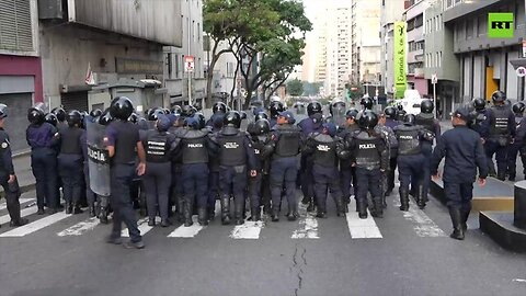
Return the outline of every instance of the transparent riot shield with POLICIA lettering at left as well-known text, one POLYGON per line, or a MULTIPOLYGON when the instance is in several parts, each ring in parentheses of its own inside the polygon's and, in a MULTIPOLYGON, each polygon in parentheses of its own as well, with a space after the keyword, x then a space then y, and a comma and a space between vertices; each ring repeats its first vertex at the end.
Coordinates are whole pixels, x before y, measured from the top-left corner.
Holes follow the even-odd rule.
POLYGON ((90 187, 98 195, 110 196, 110 155, 104 145, 106 126, 93 122, 85 124, 90 187))

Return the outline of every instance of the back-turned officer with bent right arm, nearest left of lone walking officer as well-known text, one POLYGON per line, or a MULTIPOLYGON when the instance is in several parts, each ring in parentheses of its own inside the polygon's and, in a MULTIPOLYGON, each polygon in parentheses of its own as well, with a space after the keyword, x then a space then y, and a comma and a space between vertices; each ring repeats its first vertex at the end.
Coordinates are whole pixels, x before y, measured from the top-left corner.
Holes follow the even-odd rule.
MULTIPOLYGON (((422 152, 422 140, 424 127, 415 125, 416 118, 413 114, 405 114, 404 123, 395 127, 395 135, 398 139, 398 178, 400 180, 400 210, 409 210, 409 184, 416 189, 415 200, 419 207, 423 208, 423 169, 424 155, 422 152)), ((433 140, 431 134, 427 138, 433 140)))

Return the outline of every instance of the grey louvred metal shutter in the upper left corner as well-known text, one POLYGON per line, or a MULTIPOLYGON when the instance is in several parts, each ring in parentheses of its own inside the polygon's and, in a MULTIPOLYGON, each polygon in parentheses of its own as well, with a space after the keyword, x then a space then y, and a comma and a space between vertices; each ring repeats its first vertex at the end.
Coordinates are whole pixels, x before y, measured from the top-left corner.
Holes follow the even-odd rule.
POLYGON ((30 0, 0 0, 0 48, 34 50, 30 0))

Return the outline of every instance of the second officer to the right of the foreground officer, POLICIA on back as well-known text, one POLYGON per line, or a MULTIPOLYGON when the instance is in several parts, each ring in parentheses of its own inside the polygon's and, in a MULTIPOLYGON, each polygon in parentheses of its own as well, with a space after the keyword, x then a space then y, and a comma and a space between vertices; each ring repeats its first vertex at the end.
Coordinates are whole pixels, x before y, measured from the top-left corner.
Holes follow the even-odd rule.
POLYGON ((217 148, 211 143, 209 133, 201 128, 197 118, 191 116, 184 119, 184 129, 178 134, 176 147, 176 153, 181 158, 184 226, 193 225, 192 212, 195 202, 199 225, 207 225, 208 160, 217 148))

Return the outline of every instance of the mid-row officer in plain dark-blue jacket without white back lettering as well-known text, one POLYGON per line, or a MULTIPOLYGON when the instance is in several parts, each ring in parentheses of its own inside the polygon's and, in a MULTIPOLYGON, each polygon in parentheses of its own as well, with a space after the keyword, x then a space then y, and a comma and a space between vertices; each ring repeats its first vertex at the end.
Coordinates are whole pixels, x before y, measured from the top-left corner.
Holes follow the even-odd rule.
POLYGON ((279 220, 279 207, 282 202, 282 189, 285 184, 288 214, 290 221, 299 217, 298 204, 296 201, 296 179, 298 173, 298 157, 302 146, 301 128, 294 125, 296 119, 288 111, 281 112, 277 117, 277 125, 271 132, 271 145, 274 152, 271 163, 271 187, 272 187, 272 220, 279 220))

